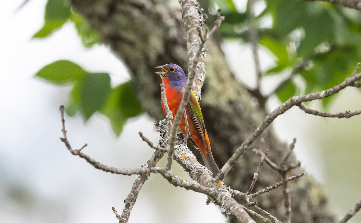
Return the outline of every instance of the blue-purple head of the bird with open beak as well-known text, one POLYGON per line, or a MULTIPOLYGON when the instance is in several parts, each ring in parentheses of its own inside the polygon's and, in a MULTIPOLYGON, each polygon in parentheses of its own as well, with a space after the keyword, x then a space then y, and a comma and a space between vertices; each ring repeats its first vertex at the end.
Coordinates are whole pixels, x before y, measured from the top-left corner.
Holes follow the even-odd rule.
POLYGON ((169 87, 185 87, 187 84, 186 74, 182 67, 177 64, 166 64, 157 66, 161 71, 156 72, 162 79, 169 80, 169 87))

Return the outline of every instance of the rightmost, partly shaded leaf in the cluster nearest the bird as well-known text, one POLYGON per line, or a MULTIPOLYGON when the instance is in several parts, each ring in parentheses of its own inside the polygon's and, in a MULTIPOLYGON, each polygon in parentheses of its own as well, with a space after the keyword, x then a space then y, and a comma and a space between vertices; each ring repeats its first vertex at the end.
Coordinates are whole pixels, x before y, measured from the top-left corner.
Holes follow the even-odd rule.
POLYGON ((143 113, 132 83, 126 82, 112 89, 101 112, 109 118, 114 133, 119 136, 127 118, 143 113))

